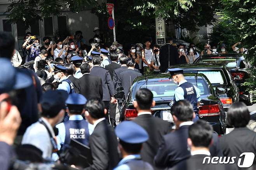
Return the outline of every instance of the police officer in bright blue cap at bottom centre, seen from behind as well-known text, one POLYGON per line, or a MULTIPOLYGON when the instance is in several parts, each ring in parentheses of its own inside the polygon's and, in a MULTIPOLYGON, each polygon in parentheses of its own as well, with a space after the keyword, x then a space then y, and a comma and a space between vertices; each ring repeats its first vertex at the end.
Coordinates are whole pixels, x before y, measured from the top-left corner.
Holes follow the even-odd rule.
POLYGON ((153 170, 153 167, 140 157, 142 144, 149 139, 146 130, 135 122, 123 121, 115 131, 123 159, 114 170, 153 170))

